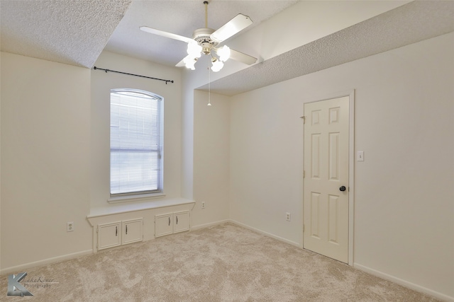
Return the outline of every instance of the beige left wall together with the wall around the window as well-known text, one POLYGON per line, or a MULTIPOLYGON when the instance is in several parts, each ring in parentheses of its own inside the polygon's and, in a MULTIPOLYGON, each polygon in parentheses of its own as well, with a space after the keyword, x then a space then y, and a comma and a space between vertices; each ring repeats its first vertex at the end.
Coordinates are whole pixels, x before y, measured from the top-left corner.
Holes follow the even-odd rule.
POLYGON ((111 88, 164 98, 165 198, 181 195, 181 71, 109 52, 96 65, 175 83, 1 53, 2 272, 92 252, 87 215, 112 207, 111 88))

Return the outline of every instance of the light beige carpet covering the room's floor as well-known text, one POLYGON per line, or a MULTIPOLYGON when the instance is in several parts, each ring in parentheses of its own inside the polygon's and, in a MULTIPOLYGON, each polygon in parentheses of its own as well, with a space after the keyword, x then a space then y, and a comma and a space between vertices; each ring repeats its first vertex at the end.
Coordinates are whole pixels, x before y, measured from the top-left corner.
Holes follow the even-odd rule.
MULTIPOLYGON (((19 272, 17 272, 19 273, 19 272)), ((32 296, 1 301, 437 301, 233 223, 27 270, 32 296)))

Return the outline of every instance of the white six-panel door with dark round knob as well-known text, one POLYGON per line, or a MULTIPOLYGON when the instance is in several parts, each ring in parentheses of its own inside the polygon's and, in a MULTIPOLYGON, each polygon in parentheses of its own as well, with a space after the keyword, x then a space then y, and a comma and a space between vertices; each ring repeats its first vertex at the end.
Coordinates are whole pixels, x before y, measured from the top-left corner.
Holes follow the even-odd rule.
POLYGON ((349 97, 304 104, 304 248, 348 263, 349 97))

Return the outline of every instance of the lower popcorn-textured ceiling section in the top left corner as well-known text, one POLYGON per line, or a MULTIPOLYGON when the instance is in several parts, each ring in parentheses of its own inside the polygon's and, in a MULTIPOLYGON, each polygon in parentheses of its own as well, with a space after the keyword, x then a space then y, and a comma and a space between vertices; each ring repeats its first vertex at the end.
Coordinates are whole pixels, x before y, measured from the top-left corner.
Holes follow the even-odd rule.
POLYGON ((2 0, 1 51, 92 68, 131 1, 2 0))

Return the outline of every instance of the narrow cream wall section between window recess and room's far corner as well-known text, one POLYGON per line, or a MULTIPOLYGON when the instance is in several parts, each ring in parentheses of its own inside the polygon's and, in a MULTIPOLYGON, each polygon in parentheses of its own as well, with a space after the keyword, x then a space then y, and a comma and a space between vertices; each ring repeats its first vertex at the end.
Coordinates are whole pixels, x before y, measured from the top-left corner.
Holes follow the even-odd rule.
POLYGON ((193 226, 229 218, 230 98, 194 91, 193 226), (205 209, 201 209, 205 202, 205 209))

